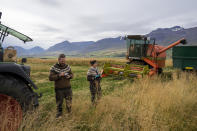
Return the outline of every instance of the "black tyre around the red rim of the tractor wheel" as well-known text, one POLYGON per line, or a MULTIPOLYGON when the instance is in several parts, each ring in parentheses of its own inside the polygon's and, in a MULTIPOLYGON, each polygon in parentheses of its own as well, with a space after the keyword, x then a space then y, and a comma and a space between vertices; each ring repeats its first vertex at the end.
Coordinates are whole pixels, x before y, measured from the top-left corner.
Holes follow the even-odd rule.
POLYGON ((15 98, 23 111, 38 106, 38 95, 21 79, 10 75, 0 75, 0 94, 15 98))

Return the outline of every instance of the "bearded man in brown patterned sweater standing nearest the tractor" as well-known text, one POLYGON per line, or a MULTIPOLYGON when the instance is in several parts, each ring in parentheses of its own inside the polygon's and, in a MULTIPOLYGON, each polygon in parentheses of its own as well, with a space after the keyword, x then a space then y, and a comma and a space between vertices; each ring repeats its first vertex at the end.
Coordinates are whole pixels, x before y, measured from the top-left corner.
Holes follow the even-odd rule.
POLYGON ((72 89, 70 79, 73 78, 73 73, 69 65, 66 64, 66 57, 60 54, 58 63, 51 67, 49 80, 55 81, 55 95, 57 104, 57 115, 62 115, 62 104, 65 98, 67 111, 71 112, 72 106, 72 89))

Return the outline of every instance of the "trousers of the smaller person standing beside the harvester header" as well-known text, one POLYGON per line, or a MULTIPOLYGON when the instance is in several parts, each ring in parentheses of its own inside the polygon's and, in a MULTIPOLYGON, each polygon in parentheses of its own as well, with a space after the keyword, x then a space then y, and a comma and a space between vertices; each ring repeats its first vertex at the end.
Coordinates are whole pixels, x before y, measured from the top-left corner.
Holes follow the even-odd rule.
POLYGON ((90 92, 91 92, 91 101, 93 104, 95 104, 96 99, 99 100, 102 95, 99 80, 94 80, 90 82, 90 92))

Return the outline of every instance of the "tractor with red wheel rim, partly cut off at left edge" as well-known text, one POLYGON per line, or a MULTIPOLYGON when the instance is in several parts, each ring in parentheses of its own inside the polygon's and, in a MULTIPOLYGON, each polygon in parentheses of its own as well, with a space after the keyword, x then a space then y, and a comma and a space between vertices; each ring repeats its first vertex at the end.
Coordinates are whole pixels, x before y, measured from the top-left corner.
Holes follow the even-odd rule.
MULTIPOLYGON (((0 18, 1 18, 0 12, 0 18)), ((32 39, 0 22, 0 130, 17 130, 24 112, 38 106, 38 89, 30 79, 30 67, 17 64, 17 51, 2 47, 5 37, 12 35, 24 43, 32 39)))

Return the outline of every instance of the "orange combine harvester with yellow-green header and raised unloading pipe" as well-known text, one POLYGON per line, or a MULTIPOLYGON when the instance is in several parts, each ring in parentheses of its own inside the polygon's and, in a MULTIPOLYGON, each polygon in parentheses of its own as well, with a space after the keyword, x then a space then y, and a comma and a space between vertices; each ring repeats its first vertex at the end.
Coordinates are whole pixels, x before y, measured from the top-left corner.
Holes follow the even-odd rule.
POLYGON ((164 47, 155 44, 154 38, 141 35, 128 35, 125 40, 127 43, 127 64, 105 63, 103 77, 116 75, 142 77, 160 74, 162 68, 165 67, 166 51, 180 43, 186 44, 186 40, 183 38, 164 47))

